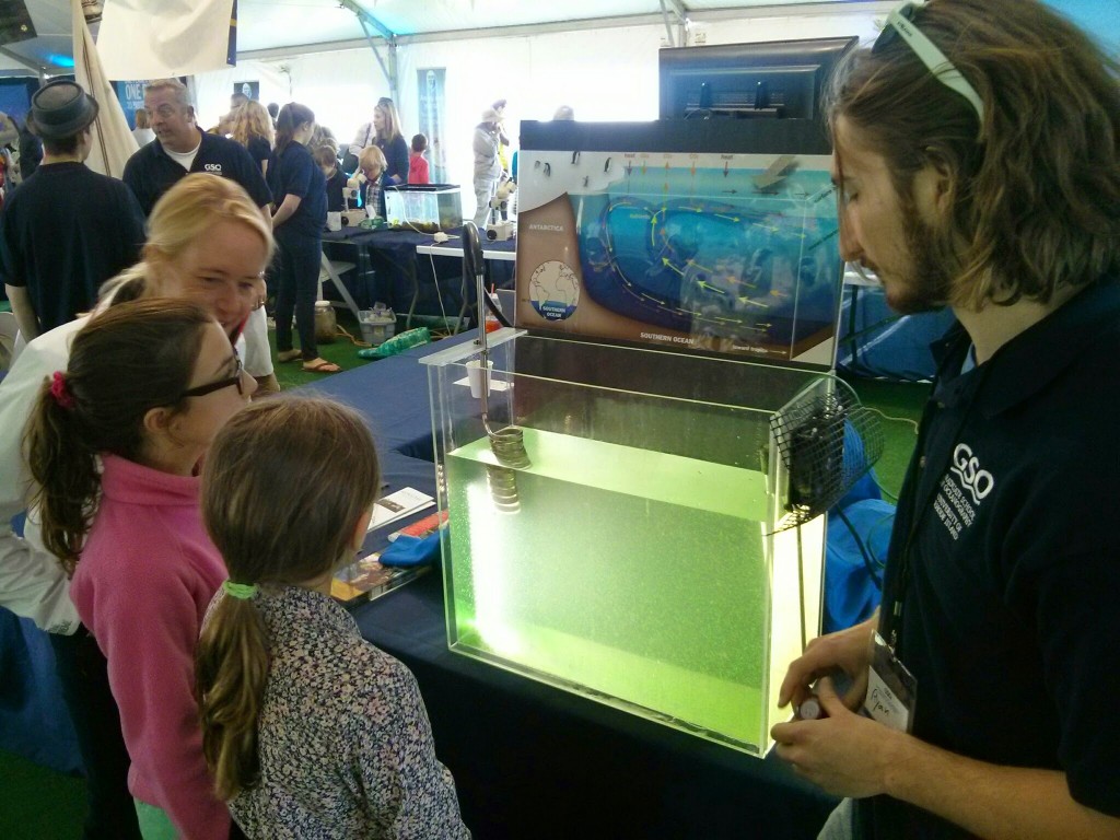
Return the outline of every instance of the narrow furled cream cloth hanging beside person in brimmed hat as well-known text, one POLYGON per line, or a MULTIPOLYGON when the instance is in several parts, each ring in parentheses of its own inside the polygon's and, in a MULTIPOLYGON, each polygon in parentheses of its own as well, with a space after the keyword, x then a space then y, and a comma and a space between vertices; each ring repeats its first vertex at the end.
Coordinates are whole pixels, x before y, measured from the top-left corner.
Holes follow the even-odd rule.
POLYGON ((139 147, 121 111, 116 92, 102 69, 97 47, 82 12, 82 0, 71 0, 71 16, 74 27, 74 78, 97 100, 100 106, 91 127, 93 148, 85 165, 95 172, 120 178, 124 164, 139 147))

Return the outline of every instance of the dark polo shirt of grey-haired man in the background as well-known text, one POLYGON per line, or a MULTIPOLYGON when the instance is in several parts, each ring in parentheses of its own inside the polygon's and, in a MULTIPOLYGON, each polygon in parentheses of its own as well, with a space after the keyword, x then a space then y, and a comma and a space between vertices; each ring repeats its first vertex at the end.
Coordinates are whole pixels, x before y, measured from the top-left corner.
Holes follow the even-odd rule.
MULTIPOLYGON (((217 134, 202 134, 198 152, 190 165, 192 172, 212 172, 236 181, 252 198, 253 204, 263 207, 272 200, 260 164, 255 162, 244 146, 217 134)), ((144 215, 151 214, 156 202, 175 186, 187 171, 172 160, 157 138, 137 151, 124 165, 124 183, 140 202, 144 215)))

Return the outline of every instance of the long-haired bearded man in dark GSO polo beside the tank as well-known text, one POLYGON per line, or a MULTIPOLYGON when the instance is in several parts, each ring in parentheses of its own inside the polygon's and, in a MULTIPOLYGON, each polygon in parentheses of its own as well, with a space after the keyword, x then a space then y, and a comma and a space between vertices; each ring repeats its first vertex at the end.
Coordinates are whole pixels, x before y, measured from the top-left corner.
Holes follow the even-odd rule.
POLYGON ((909 3, 828 115, 841 254, 958 323, 880 614, 791 664, 777 753, 824 838, 1120 836, 1120 67, 1037 0, 909 3))

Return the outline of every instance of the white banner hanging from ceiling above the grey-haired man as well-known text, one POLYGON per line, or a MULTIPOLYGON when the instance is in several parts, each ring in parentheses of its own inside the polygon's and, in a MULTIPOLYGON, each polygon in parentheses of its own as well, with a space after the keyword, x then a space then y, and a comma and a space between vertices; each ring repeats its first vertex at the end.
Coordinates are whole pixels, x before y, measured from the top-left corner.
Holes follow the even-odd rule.
POLYGON ((167 78, 236 63, 235 0, 113 0, 97 32, 110 78, 167 78))

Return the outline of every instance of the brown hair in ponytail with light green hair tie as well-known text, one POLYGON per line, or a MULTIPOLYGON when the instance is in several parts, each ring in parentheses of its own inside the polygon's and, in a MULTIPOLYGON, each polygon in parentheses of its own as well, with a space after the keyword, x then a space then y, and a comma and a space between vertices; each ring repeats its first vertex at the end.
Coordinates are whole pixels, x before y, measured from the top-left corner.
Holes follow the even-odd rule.
POLYGON ((269 673, 255 599, 349 559, 377 496, 373 437, 352 409, 324 399, 253 403, 218 433, 203 468, 203 520, 230 580, 261 587, 212 607, 196 653, 203 753, 222 800, 260 780, 256 727, 269 673))

